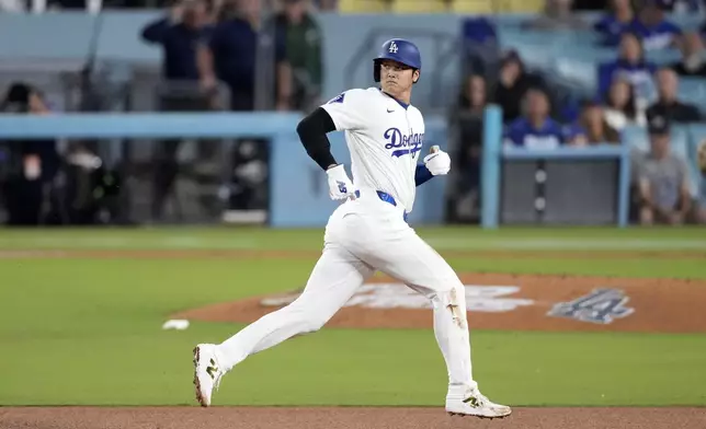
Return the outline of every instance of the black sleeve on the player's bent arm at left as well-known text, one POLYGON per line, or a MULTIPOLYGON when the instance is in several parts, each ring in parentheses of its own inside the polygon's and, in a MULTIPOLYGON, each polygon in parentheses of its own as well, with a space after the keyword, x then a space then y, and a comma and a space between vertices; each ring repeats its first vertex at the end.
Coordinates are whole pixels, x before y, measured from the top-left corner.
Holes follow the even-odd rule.
POLYGON ((331 116, 321 107, 318 107, 297 125, 297 134, 307 153, 321 169, 335 165, 335 159, 331 154, 331 142, 326 137, 327 132, 335 131, 335 125, 331 116))

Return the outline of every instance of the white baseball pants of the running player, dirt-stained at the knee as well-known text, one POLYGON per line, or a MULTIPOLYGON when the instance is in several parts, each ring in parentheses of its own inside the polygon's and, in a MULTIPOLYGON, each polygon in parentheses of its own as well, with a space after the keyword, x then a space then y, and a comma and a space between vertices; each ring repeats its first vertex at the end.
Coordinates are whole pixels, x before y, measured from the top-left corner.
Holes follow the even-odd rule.
POLYGON ((223 370, 298 334, 320 329, 375 270, 433 303, 434 334, 448 370, 449 396, 476 387, 464 286, 451 266, 402 220, 403 209, 374 192, 341 205, 329 219, 324 248, 304 292, 218 347, 223 370))

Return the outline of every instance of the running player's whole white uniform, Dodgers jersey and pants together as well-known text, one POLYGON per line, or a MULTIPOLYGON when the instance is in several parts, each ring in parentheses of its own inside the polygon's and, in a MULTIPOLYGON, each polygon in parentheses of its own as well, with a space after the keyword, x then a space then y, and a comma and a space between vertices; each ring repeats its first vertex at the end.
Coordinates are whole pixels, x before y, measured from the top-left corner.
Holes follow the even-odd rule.
MULTIPOLYGON (((251 355, 321 328, 379 270, 431 300, 434 334, 448 374, 446 408, 463 413, 463 399, 477 387, 466 291, 454 269, 417 235, 402 213, 414 204, 414 173, 424 140, 422 115, 376 88, 346 91, 322 107, 335 129, 345 132, 353 184, 361 196, 341 204, 329 218, 322 254, 301 295, 218 345, 216 363, 225 373, 251 355), (387 193, 396 201, 388 204, 368 190, 387 193)), ((205 376, 212 383, 205 385, 213 385, 205 376)), ((203 389, 204 382, 200 385, 203 389)))

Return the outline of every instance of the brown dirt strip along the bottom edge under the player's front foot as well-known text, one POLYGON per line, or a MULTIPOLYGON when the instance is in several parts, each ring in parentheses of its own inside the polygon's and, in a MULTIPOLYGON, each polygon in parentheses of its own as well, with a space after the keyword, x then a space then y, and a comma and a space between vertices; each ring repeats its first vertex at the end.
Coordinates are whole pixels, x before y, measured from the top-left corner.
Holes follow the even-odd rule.
POLYGON ((20 407, 2 429, 703 429, 706 408, 515 408, 501 420, 443 408, 20 407))

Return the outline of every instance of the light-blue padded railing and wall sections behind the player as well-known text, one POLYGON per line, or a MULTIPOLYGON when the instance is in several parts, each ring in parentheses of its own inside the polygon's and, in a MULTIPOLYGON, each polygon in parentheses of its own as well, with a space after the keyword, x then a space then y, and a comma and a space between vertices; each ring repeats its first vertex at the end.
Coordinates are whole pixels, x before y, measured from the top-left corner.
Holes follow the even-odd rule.
MULTIPOLYGON (((48 116, 0 115, 0 139, 27 140, 36 138, 66 139, 159 139, 159 138, 265 138, 270 140, 270 225, 273 228, 320 227, 326 224, 328 216, 334 209, 324 186, 324 175, 311 162, 296 135, 298 114, 282 113, 183 113, 183 114, 68 114, 48 116)), ((499 224, 497 201, 499 199, 499 173, 489 169, 498 164, 500 156, 531 156, 531 151, 516 150, 510 154, 499 151, 502 134, 499 108, 489 107, 486 116, 486 146, 496 148, 487 151, 483 159, 483 220, 487 228, 499 224), (488 158, 490 156, 490 158, 488 158)), ((440 144, 447 149, 448 129, 444 117, 426 119, 426 144, 440 144)), ((697 147, 706 140, 706 125, 687 125, 675 127, 672 132, 675 153, 688 160, 692 173, 693 194, 699 195, 704 183, 697 169, 697 147)), ((342 135, 332 135, 334 155, 350 165, 350 156, 342 135)), ((624 132, 624 144, 620 147, 563 149, 551 158, 596 159, 613 156, 625 162, 625 156, 633 148, 645 148, 645 130, 628 128, 624 132)), ((619 183, 618 224, 626 224, 626 181, 619 183)), ((411 221, 418 224, 443 223, 445 179, 431 181, 419 188, 417 204, 411 221)))

